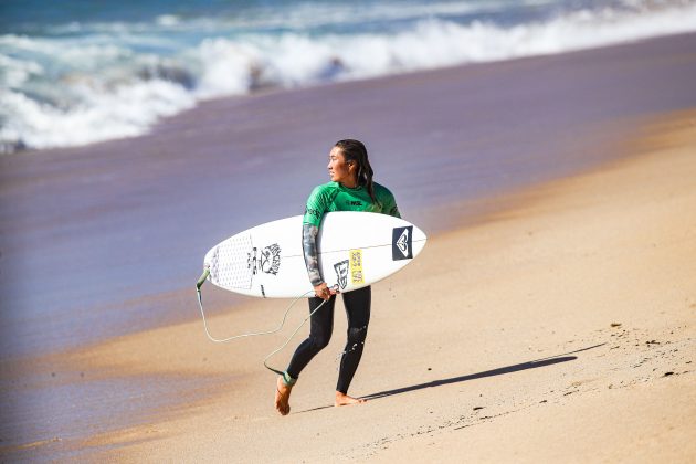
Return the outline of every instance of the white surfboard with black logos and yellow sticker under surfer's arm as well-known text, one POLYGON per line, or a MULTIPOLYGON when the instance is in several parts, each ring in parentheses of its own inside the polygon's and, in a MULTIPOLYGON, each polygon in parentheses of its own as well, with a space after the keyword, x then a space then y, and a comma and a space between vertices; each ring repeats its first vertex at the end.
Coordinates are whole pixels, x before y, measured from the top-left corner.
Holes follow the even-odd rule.
MULTIPOLYGON (((302 228, 303 217, 296 215, 224 240, 205 254, 208 281, 262 298, 313 296, 302 228)), ((329 287, 350 292, 401 270, 419 255, 426 241, 423 231, 399 218, 330 212, 324 215, 317 238, 319 271, 329 287)))

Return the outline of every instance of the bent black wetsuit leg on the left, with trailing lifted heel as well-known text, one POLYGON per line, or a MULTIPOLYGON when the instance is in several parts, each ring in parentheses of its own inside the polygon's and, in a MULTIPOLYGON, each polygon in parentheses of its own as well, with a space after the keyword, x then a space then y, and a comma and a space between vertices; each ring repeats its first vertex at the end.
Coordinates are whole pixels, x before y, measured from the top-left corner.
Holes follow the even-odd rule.
MULTIPOLYGON (((309 313, 315 310, 323 302, 324 299, 321 298, 309 298, 309 313)), ((331 339, 335 303, 336 295, 331 296, 318 312, 312 315, 309 319, 309 337, 299 344, 287 367, 287 373, 292 378, 296 379, 312 358, 321 351, 331 339)))

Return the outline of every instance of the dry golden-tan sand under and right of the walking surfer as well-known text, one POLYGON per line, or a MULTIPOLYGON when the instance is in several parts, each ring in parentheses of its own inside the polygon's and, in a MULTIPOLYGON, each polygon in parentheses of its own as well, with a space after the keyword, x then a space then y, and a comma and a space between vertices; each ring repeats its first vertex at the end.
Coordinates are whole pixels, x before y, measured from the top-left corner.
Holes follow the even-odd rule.
MULTIPOLYGON (((652 123, 626 150, 633 157, 517 192, 514 207, 432 236, 375 285, 350 391, 363 405, 331 407, 339 316, 291 414, 274 411, 275 377, 261 360, 304 317, 300 302, 278 336, 215 345, 197 320, 38 361, 66 379, 196 387, 140 425, 6 455, 60 446, 126 462, 694 462, 696 113, 652 123)), ((210 326, 220 337, 268 327, 285 305, 253 302, 210 326)))

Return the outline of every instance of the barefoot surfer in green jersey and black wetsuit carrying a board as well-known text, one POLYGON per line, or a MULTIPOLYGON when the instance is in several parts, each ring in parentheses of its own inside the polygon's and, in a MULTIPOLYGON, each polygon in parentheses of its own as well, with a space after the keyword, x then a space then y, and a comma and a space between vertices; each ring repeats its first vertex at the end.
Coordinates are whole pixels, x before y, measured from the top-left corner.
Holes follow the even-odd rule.
MULTIPOLYGON (((309 337, 295 350, 293 358, 277 379, 275 409, 283 415, 289 412, 289 394, 302 370, 323 348, 334 329, 334 304, 337 292, 321 278, 318 266, 316 239, 325 213, 330 211, 369 211, 400 218, 391 192, 372 181, 372 168, 361 141, 346 139, 336 143, 329 152, 328 172, 331 181, 314 189, 303 220, 303 247, 309 281, 315 297, 309 298, 309 310, 321 303, 325 307, 312 315, 309 337)), ((344 294, 348 316, 348 341, 340 360, 335 405, 362 403, 365 400, 348 396, 348 387, 358 369, 370 321, 371 288, 362 287, 344 294)))

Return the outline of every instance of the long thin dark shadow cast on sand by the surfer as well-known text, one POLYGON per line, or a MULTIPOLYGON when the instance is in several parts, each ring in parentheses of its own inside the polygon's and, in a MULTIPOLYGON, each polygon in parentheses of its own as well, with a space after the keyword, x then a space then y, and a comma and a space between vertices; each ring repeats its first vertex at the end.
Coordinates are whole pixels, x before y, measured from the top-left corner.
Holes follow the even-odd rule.
MULTIPOLYGON (((497 369, 486 370, 486 371, 483 371, 483 372, 470 373, 470 375, 466 375, 466 376, 458 376, 458 377, 451 377, 449 379, 433 380, 431 382, 418 383, 418 384, 414 384, 414 386, 396 388, 393 390, 384 390, 384 391, 380 391, 378 393, 366 394, 366 396, 360 397, 360 398, 363 398, 366 400, 376 400, 378 398, 391 397, 392 394, 408 393, 409 391, 423 390, 423 389, 426 389, 426 388, 434 388, 434 387, 440 387, 440 386, 446 386, 446 384, 450 384, 450 383, 458 383, 458 382, 465 382, 465 381, 468 381, 468 380, 483 379, 485 377, 503 376, 503 375, 506 375, 506 373, 518 372, 520 370, 537 369, 537 368, 541 368, 541 367, 546 367, 546 366, 553 366, 553 365, 558 365, 560 362, 568 362, 568 361, 573 361, 573 360, 578 359, 577 356, 569 356, 569 355, 574 355, 574 354, 581 352, 581 351, 588 351, 590 349, 594 349, 594 348, 601 347, 603 345, 607 345, 607 344, 593 345, 591 347, 577 349, 574 351, 565 352, 562 355, 556 355, 556 356, 550 356, 548 358, 535 359, 534 361, 527 361, 527 362, 521 362, 521 363, 518 363, 518 365, 506 366, 506 367, 502 367, 502 368, 497 368, 497 369)), ((325 405, 325 407, 308 409, 308 410, 305 410, 305 411, 298 411, 297 413, 317 411, 317 410, 326 409, 326 408, 333 408, 333 407, 325 405)))

